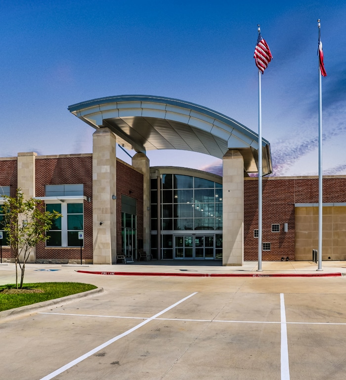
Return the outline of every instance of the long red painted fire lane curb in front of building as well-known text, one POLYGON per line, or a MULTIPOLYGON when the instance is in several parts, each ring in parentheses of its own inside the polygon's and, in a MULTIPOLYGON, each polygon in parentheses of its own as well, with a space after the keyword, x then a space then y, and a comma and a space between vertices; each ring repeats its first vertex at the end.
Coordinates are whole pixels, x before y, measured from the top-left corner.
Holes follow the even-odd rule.
POLYGON ((342 277, 342 273, 162 273, 162 272, 92 272, 76 271, 89 275, 106 276, 173 276, 173 277, 342 277))

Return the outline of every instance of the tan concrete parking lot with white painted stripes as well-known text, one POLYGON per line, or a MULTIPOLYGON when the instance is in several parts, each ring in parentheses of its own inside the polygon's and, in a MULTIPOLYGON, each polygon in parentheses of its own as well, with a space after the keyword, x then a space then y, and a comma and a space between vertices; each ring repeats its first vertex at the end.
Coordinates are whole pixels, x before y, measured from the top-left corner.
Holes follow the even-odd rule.
MULTIPOLYGON (((1 267, 0 283, 12 272, 1 267)), ((0 320, 1 380, 345 379, 344 277, 101 276, 31 266, 29 281, 104 291, 0 320)))

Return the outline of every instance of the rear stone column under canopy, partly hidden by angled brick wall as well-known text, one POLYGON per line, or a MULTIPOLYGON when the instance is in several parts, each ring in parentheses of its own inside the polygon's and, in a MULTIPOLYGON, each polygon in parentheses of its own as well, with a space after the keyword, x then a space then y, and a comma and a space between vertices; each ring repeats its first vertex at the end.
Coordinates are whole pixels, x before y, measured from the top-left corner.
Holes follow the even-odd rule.
POLYGON ((132 166, 143 174, 143 251, 150 253, 150 172, 149 158, 144 153, 132 157, 132 166))

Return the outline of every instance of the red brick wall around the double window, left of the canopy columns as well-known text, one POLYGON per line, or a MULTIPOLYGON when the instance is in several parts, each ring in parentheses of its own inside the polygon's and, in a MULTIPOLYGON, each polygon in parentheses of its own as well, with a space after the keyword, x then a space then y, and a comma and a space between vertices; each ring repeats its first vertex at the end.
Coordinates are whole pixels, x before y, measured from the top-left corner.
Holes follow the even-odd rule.
MULTIPOLYGON (((44 185, 83 184, 84 195, 92 198, 92 156, 68 155, 37 157, 35 160, 36 196, 44 196, 44 185)), ((83 260, 92 260, 92 202, 84 201, 84 247, 83 260)), ((80 248, 45 247, 40 243, 36 249, 37 262, 47 260, 64 262, 80 260, 80 248)))

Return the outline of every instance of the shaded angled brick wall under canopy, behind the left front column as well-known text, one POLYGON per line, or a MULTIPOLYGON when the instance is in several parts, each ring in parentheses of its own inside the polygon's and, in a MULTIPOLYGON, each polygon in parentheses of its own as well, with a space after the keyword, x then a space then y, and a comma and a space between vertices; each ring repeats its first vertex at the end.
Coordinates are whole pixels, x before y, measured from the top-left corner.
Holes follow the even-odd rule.
POLYGON ((117 160, 117 252, 122 250, 121 196, 137 199, 137 246, 143 239, 143 175, 117 160))

